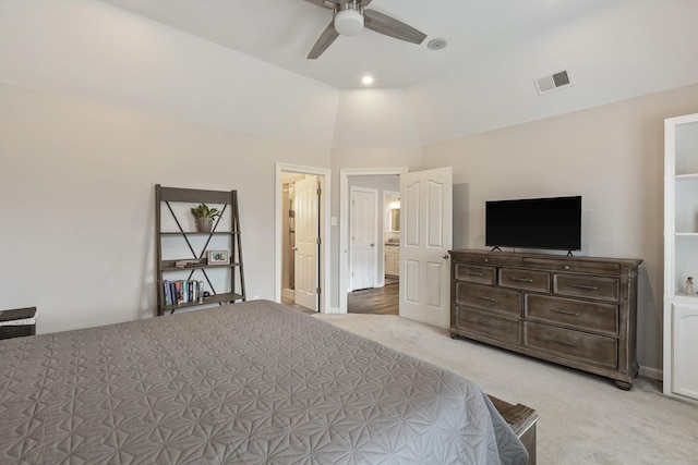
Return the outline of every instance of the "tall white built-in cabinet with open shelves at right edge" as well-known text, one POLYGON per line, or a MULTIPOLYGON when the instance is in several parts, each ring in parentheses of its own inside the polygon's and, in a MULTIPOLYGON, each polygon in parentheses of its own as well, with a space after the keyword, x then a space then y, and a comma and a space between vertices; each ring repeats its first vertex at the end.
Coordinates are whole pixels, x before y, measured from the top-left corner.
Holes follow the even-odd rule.
POLYGON ((665 120, 664 152, 664 393, 698 399, 698 113, 665 120))

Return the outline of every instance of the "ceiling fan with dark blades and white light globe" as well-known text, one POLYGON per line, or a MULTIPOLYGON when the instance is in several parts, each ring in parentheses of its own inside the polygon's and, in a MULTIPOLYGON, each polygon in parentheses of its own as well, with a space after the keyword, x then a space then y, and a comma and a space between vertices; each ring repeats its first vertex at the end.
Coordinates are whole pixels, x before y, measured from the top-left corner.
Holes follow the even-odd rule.
POLYGON ((333 10, 333 20, 308 54, 311 60, 316 59, 337 37, 353 36, 359 34, 365 26, 368 29, 390 36, 396 39, 406 40, 412 44, 421 44, 426 34, 408 26, 401 21, 397 21, 386 14, 375 10, 365 10, 371 0, 305 0, 317 7, 333 10))

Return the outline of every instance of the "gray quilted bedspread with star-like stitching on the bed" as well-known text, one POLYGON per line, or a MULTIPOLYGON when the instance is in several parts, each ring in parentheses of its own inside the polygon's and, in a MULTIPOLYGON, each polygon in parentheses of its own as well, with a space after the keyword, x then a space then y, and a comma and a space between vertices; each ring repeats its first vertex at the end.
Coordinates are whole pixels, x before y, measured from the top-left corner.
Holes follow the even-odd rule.
POLYGON ((524 464, 470 381, 255 301, 0 341, 0 463, 524 464))

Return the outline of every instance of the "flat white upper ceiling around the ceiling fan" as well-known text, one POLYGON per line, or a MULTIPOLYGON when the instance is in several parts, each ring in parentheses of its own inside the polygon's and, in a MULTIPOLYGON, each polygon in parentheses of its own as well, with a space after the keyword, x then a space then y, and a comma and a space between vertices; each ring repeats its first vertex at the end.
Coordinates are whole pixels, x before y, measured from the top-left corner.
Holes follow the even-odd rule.
POLYGON ((472 74, 514 75, 531 87, 538 75, 571 68, 581 78, 591 66, 633 81, 661 63, 652 63, 657 54, 681 54, 676 35, 688 33, 684 38, 694 41, 686 51, 696 52, 696 23, 688 20, 698 16, 697 0, 363 0, 368 10, 407 23, 426 39, 412 45, 364 28, 308 60, 333 19, 332 10, 314 4, 322 0, 107 1, 338 88, 361 88, 364 74, 380 88, 472 74), (431 50, 428 44, 440 38, 447 46, 431 50), (646 62, 634 68, 642 57, 646 62))

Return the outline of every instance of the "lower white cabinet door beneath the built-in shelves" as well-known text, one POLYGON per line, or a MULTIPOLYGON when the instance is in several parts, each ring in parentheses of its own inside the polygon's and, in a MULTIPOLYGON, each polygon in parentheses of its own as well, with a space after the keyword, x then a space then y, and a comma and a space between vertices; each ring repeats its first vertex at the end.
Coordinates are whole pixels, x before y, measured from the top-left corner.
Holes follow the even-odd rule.
POLYGON ((674 303, 673 317, 672 390, 698 399, 698 305, 674 303))

